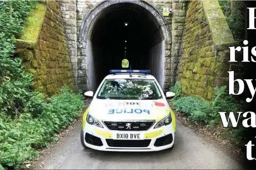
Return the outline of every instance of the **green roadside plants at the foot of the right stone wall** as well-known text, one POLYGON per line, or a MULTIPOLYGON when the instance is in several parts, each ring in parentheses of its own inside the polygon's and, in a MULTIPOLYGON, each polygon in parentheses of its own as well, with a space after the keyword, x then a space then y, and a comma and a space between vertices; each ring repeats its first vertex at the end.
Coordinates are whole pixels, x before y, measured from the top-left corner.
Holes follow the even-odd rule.
MULTIPOLYGON (((205 100, 205 98, 196 95, 183 96, 179 82, 176 82, 175 86, 170 88, 170 91, 178 94, 178 97, 172 100, 172 106, 177 112, 186 114, 192 122, 200 123, 210 129, 222 127, 218 112, 234 112, 235 116, 238 116, 236 112, 243 111, 245 107, 243 101, 239 101, 235 96, 228 95, 226 88, 226 86, 220 87, 215 91, 212 100, 205 100)), ((232 128, 229 124, 225 131, 225 135, 230 135, 232 142, 235 142, 235 144, 241 144, 243 140, 246 140, 241 137, 244 136, 242 134, 245 129, 239 123, 237 128, 232 128)))

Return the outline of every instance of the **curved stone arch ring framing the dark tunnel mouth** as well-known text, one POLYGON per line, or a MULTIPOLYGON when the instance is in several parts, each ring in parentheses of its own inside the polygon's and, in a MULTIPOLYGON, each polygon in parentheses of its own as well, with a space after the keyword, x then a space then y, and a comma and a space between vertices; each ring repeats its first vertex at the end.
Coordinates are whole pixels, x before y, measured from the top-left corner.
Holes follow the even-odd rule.
MULTIPOLYGON (((171 31, 169 27, 167 26, 167 22, 164 18, 164 16, 161 14, 159 10, 154 7, 153 4, 146 1, 101 1, 97 3, 94 7, 92 7, 89 12, 84 16, 83 21, 81 22, 81 26, 79 29, 78 34, 78 56, 83 58, 87 56, 87 40, 90 39, 92 29, 94 28, 94 24, 96 20, 100 17, 101 11, 104 9, 107 9, 110 6, 113 6, 115 4, 119 3, 132 3, 137 4, 138 6, 146 9, 151 14, 151 17, 154 18, 155 22, 159 26, 158 29, 160 30, 160 35, 162 40, 165 42, 165 58, 169 58, 168 61, 171 61, 172 63, 172 57, 169 54, 167 54, 166 50, 170 51, 171 46, 171 31)), ((165 59, 166 61, 166 59, 165 59)), ((165 62, 165 67, 171 68, 171 73, 173 72, 172 64, 170 62, 165 62)), ((87 73, 88 74, 88 73, 87 73)), ((164 84, 170 85, 170 82, 173 80, 171 76, 166 75, 164 73, 165 79, 164 84)), ((166 87, 165 87, 166 89, 166 87)))

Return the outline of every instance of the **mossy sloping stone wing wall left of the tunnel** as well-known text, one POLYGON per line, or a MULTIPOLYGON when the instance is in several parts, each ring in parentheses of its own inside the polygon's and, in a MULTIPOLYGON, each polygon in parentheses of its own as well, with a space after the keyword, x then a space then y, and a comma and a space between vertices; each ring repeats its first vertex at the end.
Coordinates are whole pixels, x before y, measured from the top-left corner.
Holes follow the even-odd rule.
POLYGON ((37 4, 16 46, 15 55, 34 75, 35 90, 52 96, 63 85, 74 89, 61 7, 56 1, 37 4))

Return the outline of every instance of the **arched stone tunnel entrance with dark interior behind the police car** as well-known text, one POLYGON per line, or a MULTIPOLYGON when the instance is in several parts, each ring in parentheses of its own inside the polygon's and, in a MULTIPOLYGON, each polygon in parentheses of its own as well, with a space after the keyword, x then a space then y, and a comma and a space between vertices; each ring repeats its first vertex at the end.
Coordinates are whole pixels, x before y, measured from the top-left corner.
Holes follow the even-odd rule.
POLYGON ((88 90, 95 92, 110 69, 130 68, 151 70, 164 87, 169 32, 161 14, 143 1, 107 1, 91 9, 79 37, 88 90), (129 68, 122 68, 124 58, 129 68))

